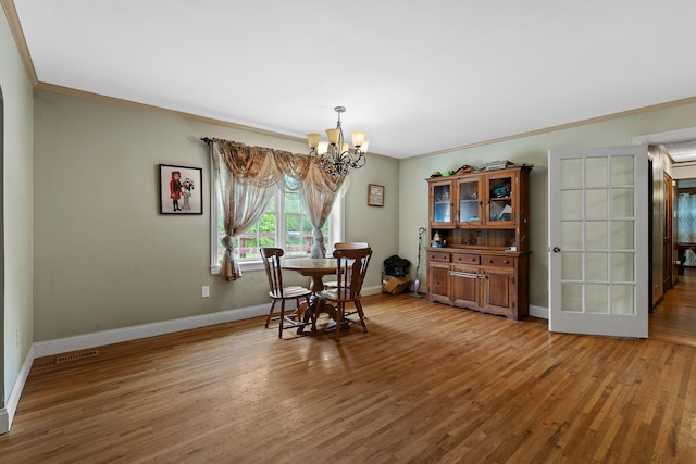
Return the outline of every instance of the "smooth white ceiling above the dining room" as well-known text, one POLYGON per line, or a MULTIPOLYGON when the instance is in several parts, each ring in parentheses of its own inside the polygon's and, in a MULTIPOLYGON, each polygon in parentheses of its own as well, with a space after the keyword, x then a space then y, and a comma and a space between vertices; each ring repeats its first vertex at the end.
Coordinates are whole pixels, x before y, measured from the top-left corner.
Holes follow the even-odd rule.
POLYGON ((693 0, 14 3, 40 83, 394 158, 696 96, 693 0))

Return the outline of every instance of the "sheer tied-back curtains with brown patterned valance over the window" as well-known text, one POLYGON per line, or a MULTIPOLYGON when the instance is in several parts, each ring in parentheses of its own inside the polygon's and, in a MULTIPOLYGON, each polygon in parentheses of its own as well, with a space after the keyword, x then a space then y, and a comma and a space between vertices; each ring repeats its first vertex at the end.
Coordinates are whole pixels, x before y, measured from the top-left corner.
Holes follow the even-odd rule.
POLYGON ((345 177, 332 178, 306 154, 249 147, 229 140, 213 139, 212 158, 225 228, 225 254, 220 274, 226 280, 241 277, 239 263, 234 256, 233 238, 259 221, 281 188, 298 189, 314 227, 311 255, 324 256, 321 227, 340 195, 345 177))

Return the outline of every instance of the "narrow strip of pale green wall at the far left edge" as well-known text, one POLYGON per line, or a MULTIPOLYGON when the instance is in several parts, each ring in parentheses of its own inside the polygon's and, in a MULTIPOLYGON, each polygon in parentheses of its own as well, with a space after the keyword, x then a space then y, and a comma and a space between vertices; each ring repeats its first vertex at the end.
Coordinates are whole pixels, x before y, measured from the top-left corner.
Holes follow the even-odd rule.
MULTIPOLYGON (((2 89, 2 404, 32 347, 32 85, 4 13, 0 17, 2 89)), ((2 429, 2 424, 0 424, 2 429)))

